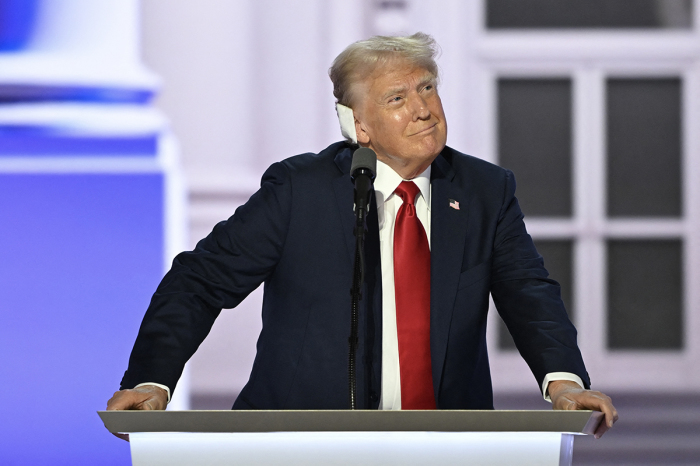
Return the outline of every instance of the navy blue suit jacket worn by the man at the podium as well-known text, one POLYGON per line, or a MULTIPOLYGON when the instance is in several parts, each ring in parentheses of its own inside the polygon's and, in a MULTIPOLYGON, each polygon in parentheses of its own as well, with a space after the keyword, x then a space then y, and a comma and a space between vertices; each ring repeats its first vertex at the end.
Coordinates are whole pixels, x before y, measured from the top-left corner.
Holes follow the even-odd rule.
MULTIPOLYGON (((257 355, 234 409, 348 407, 351 158, 352 148, 340 142, 275 163, 245 205, 194 251, 175 258, 146 312, 122 388, 158 382, 174 390, 221 309, 235 307, 264 282, 257 355)), ((576 330, 559 285, 547 278, 525 230, 512 173, 446 147, 433 162, 431 182, 430 346, 437 407, 493 408, 489 293, 539 385, 547 373, 564 371, 588 386, 576 330)), ((368 217, 366 258, 358 405, 376 409, 382 347, 376 208, 368 217)))

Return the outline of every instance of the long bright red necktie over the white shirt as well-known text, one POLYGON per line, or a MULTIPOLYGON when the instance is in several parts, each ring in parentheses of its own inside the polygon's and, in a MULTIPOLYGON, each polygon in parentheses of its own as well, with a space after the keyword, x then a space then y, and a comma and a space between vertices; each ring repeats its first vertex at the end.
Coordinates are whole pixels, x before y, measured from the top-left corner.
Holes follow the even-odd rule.
POLYGON ((414 204, 420 190, 403 181, 394 227, 394 288, 399 340, 401 408, 435 409, 430 363, 430 246, 414 204))

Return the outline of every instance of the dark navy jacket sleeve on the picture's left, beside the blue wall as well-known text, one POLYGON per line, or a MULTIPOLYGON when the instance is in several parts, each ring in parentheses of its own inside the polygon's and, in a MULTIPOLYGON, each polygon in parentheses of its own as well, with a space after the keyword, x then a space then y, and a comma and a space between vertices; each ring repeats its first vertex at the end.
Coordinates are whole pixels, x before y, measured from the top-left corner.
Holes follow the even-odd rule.
POLYGON ((141 323, 121 389, 142 382, 173 393, 185 363, 208 335, 222 308, 233 308, 274 271, 284 246, 291 179, 276 163, 261 188, 217 224, 193 251, 173 260, 141 323))

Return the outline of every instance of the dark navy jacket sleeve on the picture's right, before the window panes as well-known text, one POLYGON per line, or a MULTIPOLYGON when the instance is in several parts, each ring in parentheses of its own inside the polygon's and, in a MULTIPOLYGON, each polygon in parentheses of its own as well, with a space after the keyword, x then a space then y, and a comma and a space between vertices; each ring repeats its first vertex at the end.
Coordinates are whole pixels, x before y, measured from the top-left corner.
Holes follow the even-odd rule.
POLYGON ((540 387, 550 372, 571 372, 589 388, 576 329, 567 316, 559 284, 548 276, 525 229, 515 179, 507 170, 492 262, 494 303, 540 387))

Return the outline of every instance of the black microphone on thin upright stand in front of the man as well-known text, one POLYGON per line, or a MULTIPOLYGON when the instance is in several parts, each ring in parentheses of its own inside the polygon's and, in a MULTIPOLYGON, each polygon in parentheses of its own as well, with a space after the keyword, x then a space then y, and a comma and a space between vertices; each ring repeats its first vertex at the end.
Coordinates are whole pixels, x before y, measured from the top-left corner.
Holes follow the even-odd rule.
POLYGON ((350 395, 350 409, 356 409, 357 404, 357 327, 359 321, 359 304, 362 299, 362 284, 365 275, 364 241, 367 228, 367 210, 372 191, 372 183, 377 174, 377 154, 372 149, 361 147, 352 155, 350 167, 350 179, 355 185, 355 263, 352 274, 352 288, 350 289, 351 316, 350 338, 348 355, 348 383, 350 395))

